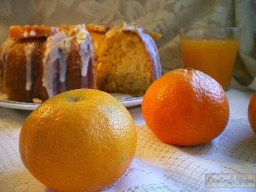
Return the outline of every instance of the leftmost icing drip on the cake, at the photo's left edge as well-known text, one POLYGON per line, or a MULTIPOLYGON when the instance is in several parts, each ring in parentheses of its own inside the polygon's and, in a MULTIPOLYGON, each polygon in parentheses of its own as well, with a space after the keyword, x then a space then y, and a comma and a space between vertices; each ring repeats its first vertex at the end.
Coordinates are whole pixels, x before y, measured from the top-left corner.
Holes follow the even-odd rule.
MULTIPOLYGON (((2 47, 1 47, 1 54, 0 54, 0 59, 2 63, 2 68, 3 68, 3 76, 0 77, 3 80, 3 86, 5 87, 6 85, 6 65, 7 65, 7 60, 9 56, 9 51, 11 50, 11 47, 15 44, 16 40, 13 38, 7 38, 6 41, 4 41, 2 47)), ((3 89, 4 89, 3 87, 3 89)))

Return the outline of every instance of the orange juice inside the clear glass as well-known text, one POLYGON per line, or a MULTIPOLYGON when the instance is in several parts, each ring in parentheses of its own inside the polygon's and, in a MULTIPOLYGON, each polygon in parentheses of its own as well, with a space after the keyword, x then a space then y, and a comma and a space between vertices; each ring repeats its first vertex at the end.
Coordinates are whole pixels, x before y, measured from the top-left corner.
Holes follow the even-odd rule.
POLYGON ((205 72, 228 88, 238 52, 237 40, 185 38, 181 40, 181 51, 185 68, 205 72))

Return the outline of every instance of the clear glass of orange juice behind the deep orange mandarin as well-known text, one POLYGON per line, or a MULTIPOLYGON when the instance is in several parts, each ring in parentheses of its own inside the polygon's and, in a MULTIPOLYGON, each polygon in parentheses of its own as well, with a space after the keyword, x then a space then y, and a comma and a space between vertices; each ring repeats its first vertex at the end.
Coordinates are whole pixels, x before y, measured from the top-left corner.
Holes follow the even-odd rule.
POLYGON ((236 27, 181 27, 180 32, 184 67, 210 75, 227 90, 238 52, 240 30, 236 27))

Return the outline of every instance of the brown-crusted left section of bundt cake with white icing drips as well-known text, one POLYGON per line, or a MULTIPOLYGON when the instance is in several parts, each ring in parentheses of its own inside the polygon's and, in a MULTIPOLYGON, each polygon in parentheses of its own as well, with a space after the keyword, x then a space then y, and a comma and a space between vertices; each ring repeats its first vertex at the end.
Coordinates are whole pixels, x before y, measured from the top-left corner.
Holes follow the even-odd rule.
POLYGON ((10 100, 26 102, 95 88, 93 48, 85 25, 11 27, 0 50, 0 87, 10 100))

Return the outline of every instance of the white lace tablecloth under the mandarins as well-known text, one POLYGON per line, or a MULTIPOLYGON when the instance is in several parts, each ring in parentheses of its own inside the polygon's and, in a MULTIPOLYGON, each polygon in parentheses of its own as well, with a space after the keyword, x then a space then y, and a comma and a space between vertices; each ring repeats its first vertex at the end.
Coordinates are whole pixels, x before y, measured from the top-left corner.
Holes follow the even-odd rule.
MULTIPOLYGON (((223 134, 209 144, 178 147, 163 144, 144 125, 140 107, 129 109, 137 124, 138 146, 122 178, 103 191, 256 191, 205 188, 205 173, 256 173, 256 136, 247 107, 253 92, 231 88, 230 120, 223 134)), ((30 112, 0 107, 0 191, 39 192, 46 188, 23 166, 18 136, 30 112)))

